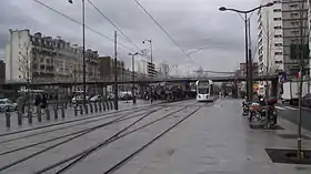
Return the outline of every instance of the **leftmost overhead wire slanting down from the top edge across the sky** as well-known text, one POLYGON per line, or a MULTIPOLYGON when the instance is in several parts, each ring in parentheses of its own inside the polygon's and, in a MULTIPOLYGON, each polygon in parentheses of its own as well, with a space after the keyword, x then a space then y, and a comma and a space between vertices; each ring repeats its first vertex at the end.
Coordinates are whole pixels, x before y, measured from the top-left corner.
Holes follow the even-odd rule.
MULTIPOLYGON (((33 0, 33 1, 37 2, 38 4, 44 7, 44 8, 47 8, 47 9, 49 9, 49 10, 53 11, 53 12, 56 12, 56 13, 58 13, 58 14, 60 14, 60 16, 67 18, 68 20, 72 21, 72 22, 74 22, 74 23, 77 23, 77 24, 79 24, 79 25, 82 25, 82 23, 81 23, 80 21, 78 21, 78 20, 76 20, 76 19, 73 19, 73 18, 71 18, 71 17, 69 17, 69 16, 67 16, 67 14, 64 14, 63 12, 60 12, 60 11, 56 10, 53 7, 48 6, 48 4, 46 4, 46 3, 43 3, 43 2, 41 2, 41 1, 39 1, 39 0, 33 0)), ((114 40, 113 40, 112 38, 107 37, 106 34, 103 34, 103 33, 97 31, 96 29, 93 29, 93 28, 91 28, 91 27, 89 27, 89 25, 84 25, 84 27, 86 27, 86 29, 89 29, 90 31, 92 31, 92 32, 94 32, 94 33, 97 33, 97 34, 99 34, 99 35, 101 35, 101 37, 103 37, 103 38, 106 38, 107 40, 109 40, 109 41, 111 41, 111 42, 114 42, 114 40)), ((123 47, 124 49, 128 49, 129 51, 132 51, 132 50, 133 50, 132 48, 130 48, 130 47, 128 47, 128 45, 126 45, 126 44, 123 44, 123 43, 118 42, 118 44, 121 45, 121 47, 123 47)))

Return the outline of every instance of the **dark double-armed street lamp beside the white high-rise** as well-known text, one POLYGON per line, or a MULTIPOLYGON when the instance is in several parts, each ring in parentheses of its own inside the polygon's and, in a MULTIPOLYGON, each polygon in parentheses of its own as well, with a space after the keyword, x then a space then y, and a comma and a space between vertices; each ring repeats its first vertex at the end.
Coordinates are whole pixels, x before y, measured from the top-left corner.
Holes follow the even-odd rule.
POLYGON ((253 99, 253 94, 252 94, 252 58, 251 58, 251 48, 249 48, 249 37, 248 37, 248 24, 249 24, 249 18, 248 14, 261 9, 261 8, 265 8, 265 7, 271 7, 273 6, 272 2, 269 2, 267 4, 263 6, 259 6, 257 8, 253 8, 251 10, 237 10, 237 9, 229 9, 225 7, 220 7, 219 10, 220 11, 233 11, 237 12, 239 14, 244 14, 243 20, 244 20, 244 24, 245 24, 245 63, 247 63, 247 93, 248 93, 248 99, 252 100, 253 99), (250 55, 250 57, 249 57, 250 55))

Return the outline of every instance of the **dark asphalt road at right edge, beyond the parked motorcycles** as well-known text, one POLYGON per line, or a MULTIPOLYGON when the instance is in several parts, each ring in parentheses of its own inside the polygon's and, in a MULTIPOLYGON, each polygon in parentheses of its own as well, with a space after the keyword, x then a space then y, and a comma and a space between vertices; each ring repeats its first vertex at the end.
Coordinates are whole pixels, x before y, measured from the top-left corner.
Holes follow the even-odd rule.
MULTIPOLYGON (((299 109, 297 106, 290 105, 278 105, 277 106, 279 116, 298 124, 299 123, 299 109)), ((302 127, 311 131, 311 110, 310 109, 302 109, 302 116, 301 116, 301 124, 302 127)))

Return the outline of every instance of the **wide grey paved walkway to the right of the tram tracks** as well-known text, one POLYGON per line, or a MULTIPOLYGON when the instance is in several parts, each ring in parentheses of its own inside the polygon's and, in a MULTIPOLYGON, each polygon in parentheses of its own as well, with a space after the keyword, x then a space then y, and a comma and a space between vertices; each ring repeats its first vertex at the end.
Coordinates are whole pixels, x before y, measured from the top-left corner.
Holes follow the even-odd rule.
MULTIPOLYGON (((202 108, 170 134, 122 166, 117 174, 310 174, 310 165, 272 163, 265 149, 295 149, 297 126, 283 119, 284 130, 251 130, 241 115, 241 101, 220 99, 202 108)), ((311 133, 303 130, 304 135, 311 133)), ((311 147, 310 140, 302 141, 311 147)))

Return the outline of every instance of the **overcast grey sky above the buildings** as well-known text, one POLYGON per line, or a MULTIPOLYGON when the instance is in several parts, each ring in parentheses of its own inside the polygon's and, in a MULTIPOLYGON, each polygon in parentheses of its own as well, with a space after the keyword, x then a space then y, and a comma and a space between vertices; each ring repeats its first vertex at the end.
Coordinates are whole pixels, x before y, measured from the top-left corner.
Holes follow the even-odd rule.
MULTIPOLYGON (((0 0, 0 58, 4 55, 9 29, 30 29, 31 33, 61 37, 82 44, 82 27, 36 2, 40 1, 68 17, 81 21, 81 0, 0 0)), ((248 10, 259 0, 138 0, 169 33, 163 32, 134 0, 86 0, 86 45, 100 55, 113 57, 113 32, 117 30, 91 6, 92 2, 133 43, 118 31, 118 59, 130 66, 129 53, 149 49, 153 61, 178 66, 190 73, 201 66, 208 71, 234 71, 244 60, 244 23, 238 13, 221 12, 219 7, 248 10), (99 33, 100 34, 99 34, 99 33), (111 40, 107 39, 110 38, 111 40), (199 48, 205 48, 193 52, 199 48), (190 53, 190 58, 187 53, 190 53)), ((252 42, 255 43, 257 16, 252 16, 252 42)), ((149 52, 150 53, 150 52, 149 52)), ((138 58, 148 59, 148 57, 138 58)))

